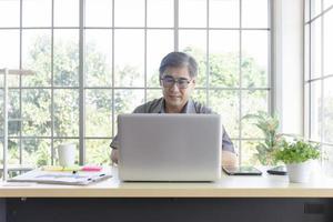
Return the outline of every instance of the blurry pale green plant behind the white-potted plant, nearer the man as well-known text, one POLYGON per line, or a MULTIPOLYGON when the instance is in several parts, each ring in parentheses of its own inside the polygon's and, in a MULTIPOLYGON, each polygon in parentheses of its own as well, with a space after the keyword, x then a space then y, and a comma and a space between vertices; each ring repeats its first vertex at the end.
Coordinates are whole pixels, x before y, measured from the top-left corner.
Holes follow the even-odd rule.
POLYGON ((253 119, 255 125, 263 132, 264 141, 260 142, 254 154, 263 165, 276 165, 274 151, 284 143, 284 139, 278 133, 279 118, 276 114, 270 115, 259 111, 256 114, 246 114, 243 119, 253 119))

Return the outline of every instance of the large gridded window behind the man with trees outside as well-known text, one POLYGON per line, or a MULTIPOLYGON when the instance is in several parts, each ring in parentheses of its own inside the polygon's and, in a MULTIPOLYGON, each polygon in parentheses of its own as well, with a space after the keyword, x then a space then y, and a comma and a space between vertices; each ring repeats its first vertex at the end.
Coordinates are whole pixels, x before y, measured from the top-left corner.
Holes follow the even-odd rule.
POLYGON ((36 72, 10 77, 9 163, 53 164, 75 142, 79 163, 108 164, 117 115, 161 97, 174 50, 198 60, 194 99, 258 163, 263 137, 241 118, 271 111, 269 21, 269 0, 0 0, 1 67, 36 72))

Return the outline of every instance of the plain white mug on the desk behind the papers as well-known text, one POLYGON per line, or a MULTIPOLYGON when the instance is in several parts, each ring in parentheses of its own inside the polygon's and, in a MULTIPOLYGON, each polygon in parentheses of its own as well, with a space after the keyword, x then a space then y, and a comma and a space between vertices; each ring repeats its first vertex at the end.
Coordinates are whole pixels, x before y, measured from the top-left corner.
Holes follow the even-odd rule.
POLYGON ((64 143, 58 147, 59 164, 61 167, 71 167, 75 163, 77 145, 74 143, 64 143))

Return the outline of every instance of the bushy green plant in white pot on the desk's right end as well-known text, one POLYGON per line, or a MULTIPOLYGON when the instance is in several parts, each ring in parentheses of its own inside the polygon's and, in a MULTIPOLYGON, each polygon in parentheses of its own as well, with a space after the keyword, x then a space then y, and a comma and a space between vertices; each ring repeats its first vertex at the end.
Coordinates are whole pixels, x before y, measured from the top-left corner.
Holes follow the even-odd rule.
POLYGON ((320 155, 319 145, 304 140, 284 142, 282 149, 274 152, 275 160, 285 163, 290 182, 295 183, 309 181, 312 160, 319 159, 320 155))

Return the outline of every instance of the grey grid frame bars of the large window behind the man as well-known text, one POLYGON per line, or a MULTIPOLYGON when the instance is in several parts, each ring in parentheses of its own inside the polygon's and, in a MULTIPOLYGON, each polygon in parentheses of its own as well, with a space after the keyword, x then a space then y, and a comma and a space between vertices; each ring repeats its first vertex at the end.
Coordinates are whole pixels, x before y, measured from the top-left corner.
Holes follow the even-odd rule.
MULTIPOLYGON (((209 46, 210 46, 210 40, 209 40, 209 33, 211 30, 236 30, 239 31, 240 34, 240 40, 239 40, 239 46, 240 46, 240 57, 239 57, 239 62, 240 62, 240 70, 239 70, 239 74, 240 74, 240 85, 236 88, 213 88, 210 85, 210 70, 209 70, 209 65, 206 65, 206 85, 205 87, 199 87, 196 88, 198 90, 204 90, 206 92, 206 98, 205 98, 205 103, 206 105, 210 105, 210 91, 211 90, 235 90, 239 92, 239 118, 241 118, 243 115, 242 112, 242 92, 251 89, 251 90, 262 90, 265 91, 268 93, 268 111, 270 113, 274 112, 274 70, 273 69, 273 58, 272 58, 272 42, 273 42, 273 34, 274 34, 274 30, 272 28, 272 22, 273 19, 272 18, 272 11, 273 11, 273 3, 272 0, 266 0, 268 1, 268 28, 243 28, 242 27, 242 1, 244 0, 239 0, 240 2, 240 27, 239 28, 210 28, 209 26, 209 18, 210 18, 210 0, 205 0, 206 2, 206 27, 205 28, 180 28, 179 27, 179 1, 181 0, 173 0, 173 7, 174 7, 174 26, 173 28, 149 28, 147 27, 147 4, 148 4, 148 0, 144 0, 144 27, 140 27, 140 28, 135 28, 135 29, 142 29, 144 30, 144 87, 143 88, 124 88, 124 87, 114 87, 114 30, 117 29, 132 29, 132 28, 124 28, 124 27, 114 27, 114 1, 112 0, 112 27, 85 27, 84 26, 84 10, 85 10, 85 1, 84 0, 77 0, 79 1, 79 26, 78 27, 54 27, 54 1, 57 0, 50 0, 51 1, 51 27, 22 27, 22 3, 24 0, 19 0, 20 1, 20 27, 16 28, 16 27, 6 27, 6 28, 0 28, 0 30, 19 30, 20 32, 20 62, 19 65, 20 68, 22 68, 22 36, 23 36, 23 30, 28 30, 28 29, 43 29, 43 30, 50 30, 51 31, 51 85, 50 87, 23 87, 22 85, 22 77, 20 77, 20 81, 19 81, 19 87, 11 87, 10 90, 19 90, 20 91, 20 115, 22 115, 22 89, 50 89, 51 90, 51 135, 50 137, 23 137, 22 135, 22 127, 20 127, 20 132, 18 137, 9 137, 9 139, 14 139, 14 140, 19 140, 19 149, 20 149, 20 159, 19 162, 22 163, 22 140, 24 139, 50 139, 51 140, 51 164, 54 164, 54 157, 56 157, 56 151, 54 151, 54 140, 59 140, 59 139, 74 139, 74 140, 79 140, 79 163, 80 164, 84 164, 85 162, 85 140, 92 139, 92 140, 98 140, 98 139, 107 139, 107 140, 112 140, 112 138, 114 137, 114 134, 112 134, 111 137, 85 137, 85 90, 87 89, 110 89, 112 91, 112 101, 114 101, 114 90, 129 90, 129 89, 141 89, 144 91, 144 101, 147 102, 147 91, 148 90, 154 90, 154 89, 160 89, 160 88, 150 88, 147 85, 147 31, 148 30, 159 30, 159 29, 163 29, 163 30, 173 30, 174 33, 174 51, 179 51, 179 31, 180 30, 204 30, 206 32, 206 63, 209 63, 209 46), (79 87, 57 87, 53 83, 53 75, 54 75, 54 70, 53 70, 53 46, 54 46, 54 30, 58 29, 70 29, 70 30, 75 30, 79 32, 79 87), (92 29, 110 29, 112 30, 112 85, 111 87, 85 87, 84 83, 84 31, 85 30, 92 30, 92 29), (241 68, 241 62, 242 62, 242 33, 243 31, 249 31, 249 30, 264 30, 268 31, 268 87, 263 87, 263 88, 243 88, 242 87, 242 68, 241 68), (79 92, 79 137, 56 137, 54 135, 54 89, 75 89, 79 92)), ((112 133, 114 133, 114 129, 115 129, 115 108, 114 108, 114 102, 112 102, 112 133)), ((236 138, 231 138, 233 141, 235 141, 236 143, 239 143, 239 158, 240 158, 240 162, 242 162, 242 143, 245 141, 259 141, 262 140, 262 138, 243 138, 242 137, 242 128, 243 128, 243 123, 240 120, 239 121, 239 135, 236 138)))

